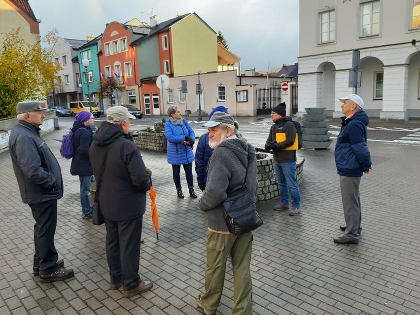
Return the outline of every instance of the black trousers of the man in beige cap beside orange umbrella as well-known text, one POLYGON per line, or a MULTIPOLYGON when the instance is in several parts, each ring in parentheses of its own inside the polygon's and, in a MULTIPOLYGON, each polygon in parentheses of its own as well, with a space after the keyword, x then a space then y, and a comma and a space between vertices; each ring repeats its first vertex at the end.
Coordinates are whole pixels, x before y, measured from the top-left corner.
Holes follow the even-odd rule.
POLYGON ((124 290, 140 284, 140 237, 143 216, 127 221, 105 219, 106 258, 111 283, 123 280, 124 290))

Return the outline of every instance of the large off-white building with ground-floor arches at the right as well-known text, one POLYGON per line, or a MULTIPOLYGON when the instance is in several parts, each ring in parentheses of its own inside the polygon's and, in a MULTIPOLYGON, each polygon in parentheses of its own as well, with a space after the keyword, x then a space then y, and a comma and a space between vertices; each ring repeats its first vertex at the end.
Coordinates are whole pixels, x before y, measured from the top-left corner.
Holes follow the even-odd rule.
POLYGON ((299 112, 357 93, 370 116, 420 117, 419 0, 300 0, 299 112), (361 86, 349 87, 352 51, 360 51, 361 86))

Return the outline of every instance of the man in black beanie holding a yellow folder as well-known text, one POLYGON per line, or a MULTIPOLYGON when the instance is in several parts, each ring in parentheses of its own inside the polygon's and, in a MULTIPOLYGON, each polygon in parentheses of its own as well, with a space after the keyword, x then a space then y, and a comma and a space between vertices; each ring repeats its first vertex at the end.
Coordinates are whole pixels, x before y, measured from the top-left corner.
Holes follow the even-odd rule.
POLYGON ((280 103, 271 110, 270 134, 265 143, 266 150, 273 150, 274 171, 279 185, 279 204, 273 210, 289 210, 289 192, 292 200, 292 208, 289 215, 300 212, 300 192, 296 180, 296 150, 287 149, 296 139, 296 127, 292 118, 286 116, 286 104, 280 103), (281 142, 277 142, 277 134, 284 134, 281 142))

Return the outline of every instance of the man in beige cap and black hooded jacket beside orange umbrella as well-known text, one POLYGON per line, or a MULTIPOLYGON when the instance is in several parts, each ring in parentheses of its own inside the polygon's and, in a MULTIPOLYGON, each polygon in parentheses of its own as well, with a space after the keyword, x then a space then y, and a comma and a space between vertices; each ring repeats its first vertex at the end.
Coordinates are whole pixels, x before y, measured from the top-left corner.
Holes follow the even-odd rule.
POLYGON ((140 236, 150 180, 140 152, 128 134, 130 119, 136 117, 126 107, 108 108, 106 122, 99 127, 89 149, 93 173, 97 185, 101 185, 99 204, 105 218, 110 288, 124 285, 125 297, 153 286, 152 281, 141 280, 139 276, 140 236))

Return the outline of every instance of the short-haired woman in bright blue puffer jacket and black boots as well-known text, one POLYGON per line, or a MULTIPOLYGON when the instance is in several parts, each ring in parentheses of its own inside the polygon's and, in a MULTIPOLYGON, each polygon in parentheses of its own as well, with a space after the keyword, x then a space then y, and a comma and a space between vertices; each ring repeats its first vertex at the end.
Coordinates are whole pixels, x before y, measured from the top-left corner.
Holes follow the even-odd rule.
POLYGON ((169 106, 167 113, 169 115, 169 119, 165 124, 165 137, 168 141, 167 159, 168 163, 172 165, 172 175, 174 177, 178 197, 184 198, 179 175, 182 165, 185 171, 190 196, 197 198, 194 191, 192 175, 192 162, 194 161, 192 148, 195 142, 194 131, 188 124, 188 121, 182 118, 178 106, 169 106))

